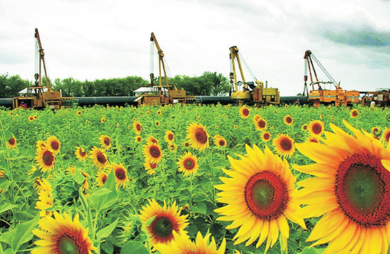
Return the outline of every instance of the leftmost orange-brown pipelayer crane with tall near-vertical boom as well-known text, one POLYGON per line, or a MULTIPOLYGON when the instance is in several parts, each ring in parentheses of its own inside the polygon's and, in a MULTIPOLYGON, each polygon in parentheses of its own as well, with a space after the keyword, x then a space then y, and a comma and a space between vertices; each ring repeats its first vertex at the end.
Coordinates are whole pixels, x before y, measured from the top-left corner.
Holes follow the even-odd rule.
POLYGON ((54 91, 50 86, 50 81, 46 71, 45 53, 42 48, 38 29, 35 28, 35 84, 26 88, 26 93, 19 97, 12 98, 12 108, 61 108, 62 106, 73 106, 73 97, 62 97, 61 91, 54 91), (41 69, 44 68, 45 84, 42 86, 41 69))

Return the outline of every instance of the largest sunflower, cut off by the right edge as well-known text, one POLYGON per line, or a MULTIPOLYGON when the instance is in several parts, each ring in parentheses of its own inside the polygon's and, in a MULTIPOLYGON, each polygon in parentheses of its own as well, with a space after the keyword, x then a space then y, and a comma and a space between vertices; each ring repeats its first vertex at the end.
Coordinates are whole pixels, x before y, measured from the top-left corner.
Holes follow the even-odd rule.
POLYGON ((324 144, 297 144, 315 164, 295 166, 310 177, 298 183, 305 218, 321 217, 306 241, 324 253, 387 253, 390 235, 390 154, 369 133, 343 121, 324 144))

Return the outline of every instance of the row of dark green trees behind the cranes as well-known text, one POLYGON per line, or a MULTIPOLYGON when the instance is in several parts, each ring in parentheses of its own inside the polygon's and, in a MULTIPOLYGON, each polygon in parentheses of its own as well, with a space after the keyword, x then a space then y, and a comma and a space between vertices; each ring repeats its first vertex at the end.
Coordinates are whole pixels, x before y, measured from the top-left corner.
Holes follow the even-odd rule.
MULTIPOLYGON (((187 91, 187 95, 226 95, 230 92, 228 78, 221 73, 204 72, 200 77, 177 75, 169 78, 169 85, 187 91)), ((42 81, 45 84, 45 81, 42 81)), ((63 97, 106 97, 133 96, 133 91, 141 86, 149 86, 150 81, 138 76, 115 79, 96 79, 95 81, 79 81, 68 77, 50 81, 53 90, 61 90, 63 97)), ((154 79, 158 84, 158 78, 154 79)), ((163 84, 165 80, 163 79, 163 84)), ((19 91, 33 86, 32 81, 24 80, 19 75, 0 75, 0 98, 11 98, 19 95, 19 91)))

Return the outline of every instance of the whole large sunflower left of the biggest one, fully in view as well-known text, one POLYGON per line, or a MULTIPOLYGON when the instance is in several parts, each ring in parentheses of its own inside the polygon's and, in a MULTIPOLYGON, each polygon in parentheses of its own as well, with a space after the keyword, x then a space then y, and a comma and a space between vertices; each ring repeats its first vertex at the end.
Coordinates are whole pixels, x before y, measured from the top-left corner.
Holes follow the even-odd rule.
POLYGON ((227 204, 214 210, 223 215, 222 221, 233 221, 226 229, 239 228, 234 244, 252 244, 259 238, 258 248, 267 239, 266 251, 277 242, 286 250, 289 227, 287 219, 306 229, 301 218, 295 189, 296 178, 286 159, 274 155, 266 146, 264 152, 256 145, 246 146, 247 155, 241 160, 228 156, 232 170, 223 172, 232 178, 221 177, 223 184, 214 186, 219 202, 227 204))

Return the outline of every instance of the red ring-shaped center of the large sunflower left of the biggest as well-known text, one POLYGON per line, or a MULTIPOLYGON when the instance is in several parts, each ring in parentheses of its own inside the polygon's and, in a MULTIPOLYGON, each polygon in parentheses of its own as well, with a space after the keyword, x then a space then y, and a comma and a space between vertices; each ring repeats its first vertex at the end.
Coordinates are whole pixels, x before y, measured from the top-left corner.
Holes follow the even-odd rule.
POLYGON ((250 177, 245 185, 245 202, 260 219, 277 219, 287 208, 288 188, 281 177, 263 171, 250 177))

